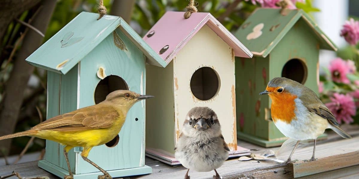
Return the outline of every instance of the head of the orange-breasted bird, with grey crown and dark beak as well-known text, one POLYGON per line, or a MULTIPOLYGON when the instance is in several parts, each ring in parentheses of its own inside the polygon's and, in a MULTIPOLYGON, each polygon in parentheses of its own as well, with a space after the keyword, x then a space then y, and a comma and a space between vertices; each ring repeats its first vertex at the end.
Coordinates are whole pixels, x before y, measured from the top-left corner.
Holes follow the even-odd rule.
POLYGON ((260 95, 278 95, 280 93, 290 93, 296 96, 300 96, 303 89, 306 89, 303 84, 300 84, 292 79, 284 77, 276 77, 268 82, 267 88, 265 91, 259 93, 260 95))

